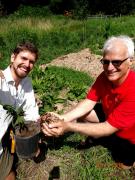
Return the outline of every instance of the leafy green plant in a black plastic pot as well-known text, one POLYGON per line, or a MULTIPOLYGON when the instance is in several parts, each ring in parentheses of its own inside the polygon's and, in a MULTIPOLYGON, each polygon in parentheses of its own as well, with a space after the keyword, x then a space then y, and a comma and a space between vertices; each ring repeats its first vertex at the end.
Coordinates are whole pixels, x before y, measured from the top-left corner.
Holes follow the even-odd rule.
POLYGON ((17 155, 21 158, 34 157, 38 150, 39 124, 33 121, 24 121, 22 109, 16 111, 11 105, 3 105, 3 108, 13 116, 12 126, 17 155))

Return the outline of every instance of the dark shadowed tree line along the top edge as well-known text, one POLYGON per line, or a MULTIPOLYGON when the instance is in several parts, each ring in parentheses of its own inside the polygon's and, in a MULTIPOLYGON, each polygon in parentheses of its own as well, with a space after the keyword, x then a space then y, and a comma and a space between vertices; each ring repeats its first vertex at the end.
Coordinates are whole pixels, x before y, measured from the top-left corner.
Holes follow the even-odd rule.
POLYGON ((63 14, 65 11, 76 17, 89 15, 129 15, 135 13, 134 0, 0 0, 0 15, 16 11, 20 5, 47 6, 52 13, 63 14))

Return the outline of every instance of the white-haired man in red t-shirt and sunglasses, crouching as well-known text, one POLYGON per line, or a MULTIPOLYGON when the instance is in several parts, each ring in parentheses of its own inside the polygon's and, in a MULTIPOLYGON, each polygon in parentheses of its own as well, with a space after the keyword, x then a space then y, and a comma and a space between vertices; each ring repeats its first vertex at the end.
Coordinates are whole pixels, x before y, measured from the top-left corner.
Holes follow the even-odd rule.
MULTIPOLYGON (((42 130, 48 136, 67 131, 79 132, 93 138, 115 134, 120 166, 131 168, 135 162, 135 72, 130 70, 134 43, 127 36, 109 38, 103 47, 103 72, 89 90, 86 99, 64 115, 64 122, 42 130), (98 102, 101 102, 103 110, 98 102), (76 120, 83 119, 87 123, 76 120)), ((112 146, 113 146, 113 142, 112 146)), ((113 147, 114 147, 113 146, 113 147)))

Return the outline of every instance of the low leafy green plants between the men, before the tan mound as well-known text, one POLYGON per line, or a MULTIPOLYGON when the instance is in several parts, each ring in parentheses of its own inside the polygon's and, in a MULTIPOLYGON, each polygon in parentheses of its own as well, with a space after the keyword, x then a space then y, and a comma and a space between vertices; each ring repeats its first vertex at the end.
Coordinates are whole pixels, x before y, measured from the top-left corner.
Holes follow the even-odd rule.
POLYGON ((85 73, 53 66, 45 70, 36 68, 31 76, 34 90, 43 102, 41 113, 56 110, 57 103, 80 101, 92 83, 92 79, 85 73), (65 97, 60 97, 62 90, 66 90, 65 97))

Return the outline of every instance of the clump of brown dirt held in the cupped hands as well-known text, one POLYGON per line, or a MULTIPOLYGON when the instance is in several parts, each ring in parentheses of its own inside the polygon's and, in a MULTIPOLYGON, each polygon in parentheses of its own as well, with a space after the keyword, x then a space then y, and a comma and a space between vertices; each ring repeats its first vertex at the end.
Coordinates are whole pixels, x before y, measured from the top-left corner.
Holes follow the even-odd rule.
POLYGON ((41 116, 41 123, 54 123, 54 122, 59 122, 63 121, 63 119, 60 119, 57 115, 51 112, 47 112, 44 115, 41 116))

